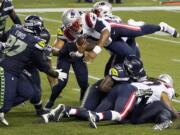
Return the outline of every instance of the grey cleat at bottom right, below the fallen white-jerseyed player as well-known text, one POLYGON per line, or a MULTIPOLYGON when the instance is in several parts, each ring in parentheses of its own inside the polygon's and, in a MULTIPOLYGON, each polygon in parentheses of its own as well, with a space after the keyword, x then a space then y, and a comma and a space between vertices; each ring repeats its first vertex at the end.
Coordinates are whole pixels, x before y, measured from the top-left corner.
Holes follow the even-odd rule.
POLYGON ((156 124, 153 129, 156 130, 156 131, 158 131, 158 130, 162 131, 163 129, 169 128, 171 125, 172 125, 172 121, 167 120, 165 122, 156 124))

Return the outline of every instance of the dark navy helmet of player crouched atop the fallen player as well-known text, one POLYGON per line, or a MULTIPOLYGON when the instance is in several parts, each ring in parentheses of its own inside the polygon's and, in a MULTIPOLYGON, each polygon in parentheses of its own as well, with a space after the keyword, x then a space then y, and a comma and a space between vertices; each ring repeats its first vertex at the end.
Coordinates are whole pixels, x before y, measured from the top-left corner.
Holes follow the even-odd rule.
POLYGON ((146 71, 142 61, 136 56, 129 56, 124 60, 124 67, 127 70, 129 77, 136 81, 147 79, 146 71))

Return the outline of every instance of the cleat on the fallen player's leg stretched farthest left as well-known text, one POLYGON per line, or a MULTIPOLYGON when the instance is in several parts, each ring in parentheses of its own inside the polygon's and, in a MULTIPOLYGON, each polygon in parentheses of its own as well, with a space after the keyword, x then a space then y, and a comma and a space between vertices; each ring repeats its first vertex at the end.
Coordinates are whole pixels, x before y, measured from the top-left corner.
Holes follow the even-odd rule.
POLYGON ((54 114, 54 120, 59 121, 64 116, 65 105, 64 104, 59 104, 51 112, 54 114))

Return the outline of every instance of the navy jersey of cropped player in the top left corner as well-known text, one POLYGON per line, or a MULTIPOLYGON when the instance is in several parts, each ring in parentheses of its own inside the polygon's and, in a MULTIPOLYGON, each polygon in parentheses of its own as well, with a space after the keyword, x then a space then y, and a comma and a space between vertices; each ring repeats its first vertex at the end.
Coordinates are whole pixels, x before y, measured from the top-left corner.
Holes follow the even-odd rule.
POLYGON ((0 38, 4 33, 8 15, 14 9, 11 0, 4 0, 0 7, 0 38))

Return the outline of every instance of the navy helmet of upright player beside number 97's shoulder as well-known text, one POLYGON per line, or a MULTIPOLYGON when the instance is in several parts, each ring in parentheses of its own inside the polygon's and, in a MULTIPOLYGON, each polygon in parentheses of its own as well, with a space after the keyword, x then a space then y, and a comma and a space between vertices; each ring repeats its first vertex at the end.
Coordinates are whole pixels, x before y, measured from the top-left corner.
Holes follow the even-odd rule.
POLYGON ((32 34, 40 35, 44 28, 43 19, 36 15, 27 16, 24 19, 24 27, 27 28, 32 34))

